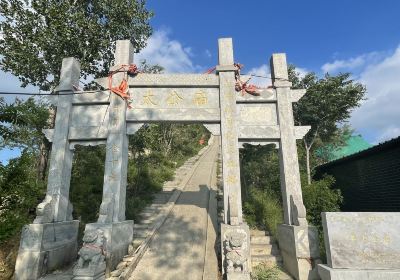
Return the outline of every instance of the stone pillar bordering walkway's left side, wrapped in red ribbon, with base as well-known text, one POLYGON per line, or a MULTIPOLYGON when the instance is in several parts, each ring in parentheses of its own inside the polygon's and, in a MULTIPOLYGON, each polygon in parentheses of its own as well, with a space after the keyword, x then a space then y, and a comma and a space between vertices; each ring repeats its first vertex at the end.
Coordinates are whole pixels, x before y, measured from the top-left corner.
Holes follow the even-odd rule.
MULTIPOLYGON (((129 40, 116 42, 115 61, 111 70, 121 65, 133 63, 133 46, 129 40)), ((126 72, 113 75, 113 87, 127 79, 126 72)), ((114 270, 119 261, 128 253, 128 246, 133 238, 133 221, 125 220, 125 202, 128 168, 128 135, 126 131, 127 104, 118 95, 111 93, 109 107, 108 137, 104 170, 103 200, 97 223, 87 224, 84 241, 95 236, 95 241, 104 244, 106 275, 114 270), (104 240, 103 240, 104 239, 104 240)), ((94 240, 94 239, 93 239, 94 240)), ((90 244, 88 245, 91 246, 90 244)), ((104 261, 104 260, 103 260, 104 261)), ((97 279, 104 271, 103 263, 96 262, 85 266, 78 262, 74 279, 97 279)))

